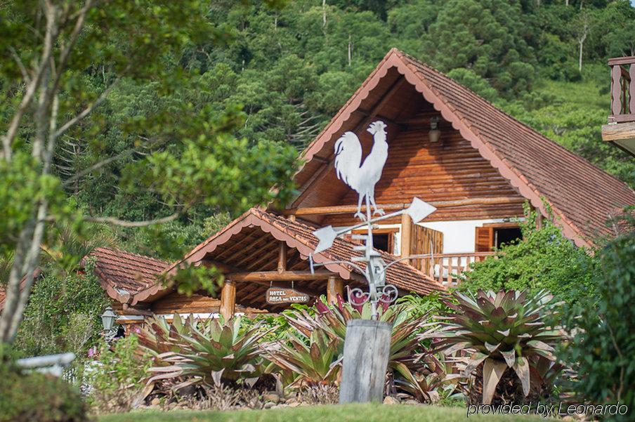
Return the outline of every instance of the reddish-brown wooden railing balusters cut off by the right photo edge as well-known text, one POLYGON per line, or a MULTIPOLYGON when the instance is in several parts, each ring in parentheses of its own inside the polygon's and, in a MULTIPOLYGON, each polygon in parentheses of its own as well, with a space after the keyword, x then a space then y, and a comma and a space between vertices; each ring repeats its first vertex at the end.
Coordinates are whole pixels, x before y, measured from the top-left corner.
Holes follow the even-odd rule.
POLYGON ((608 123, 635 121, 635 56, 611 58, 608 123))

